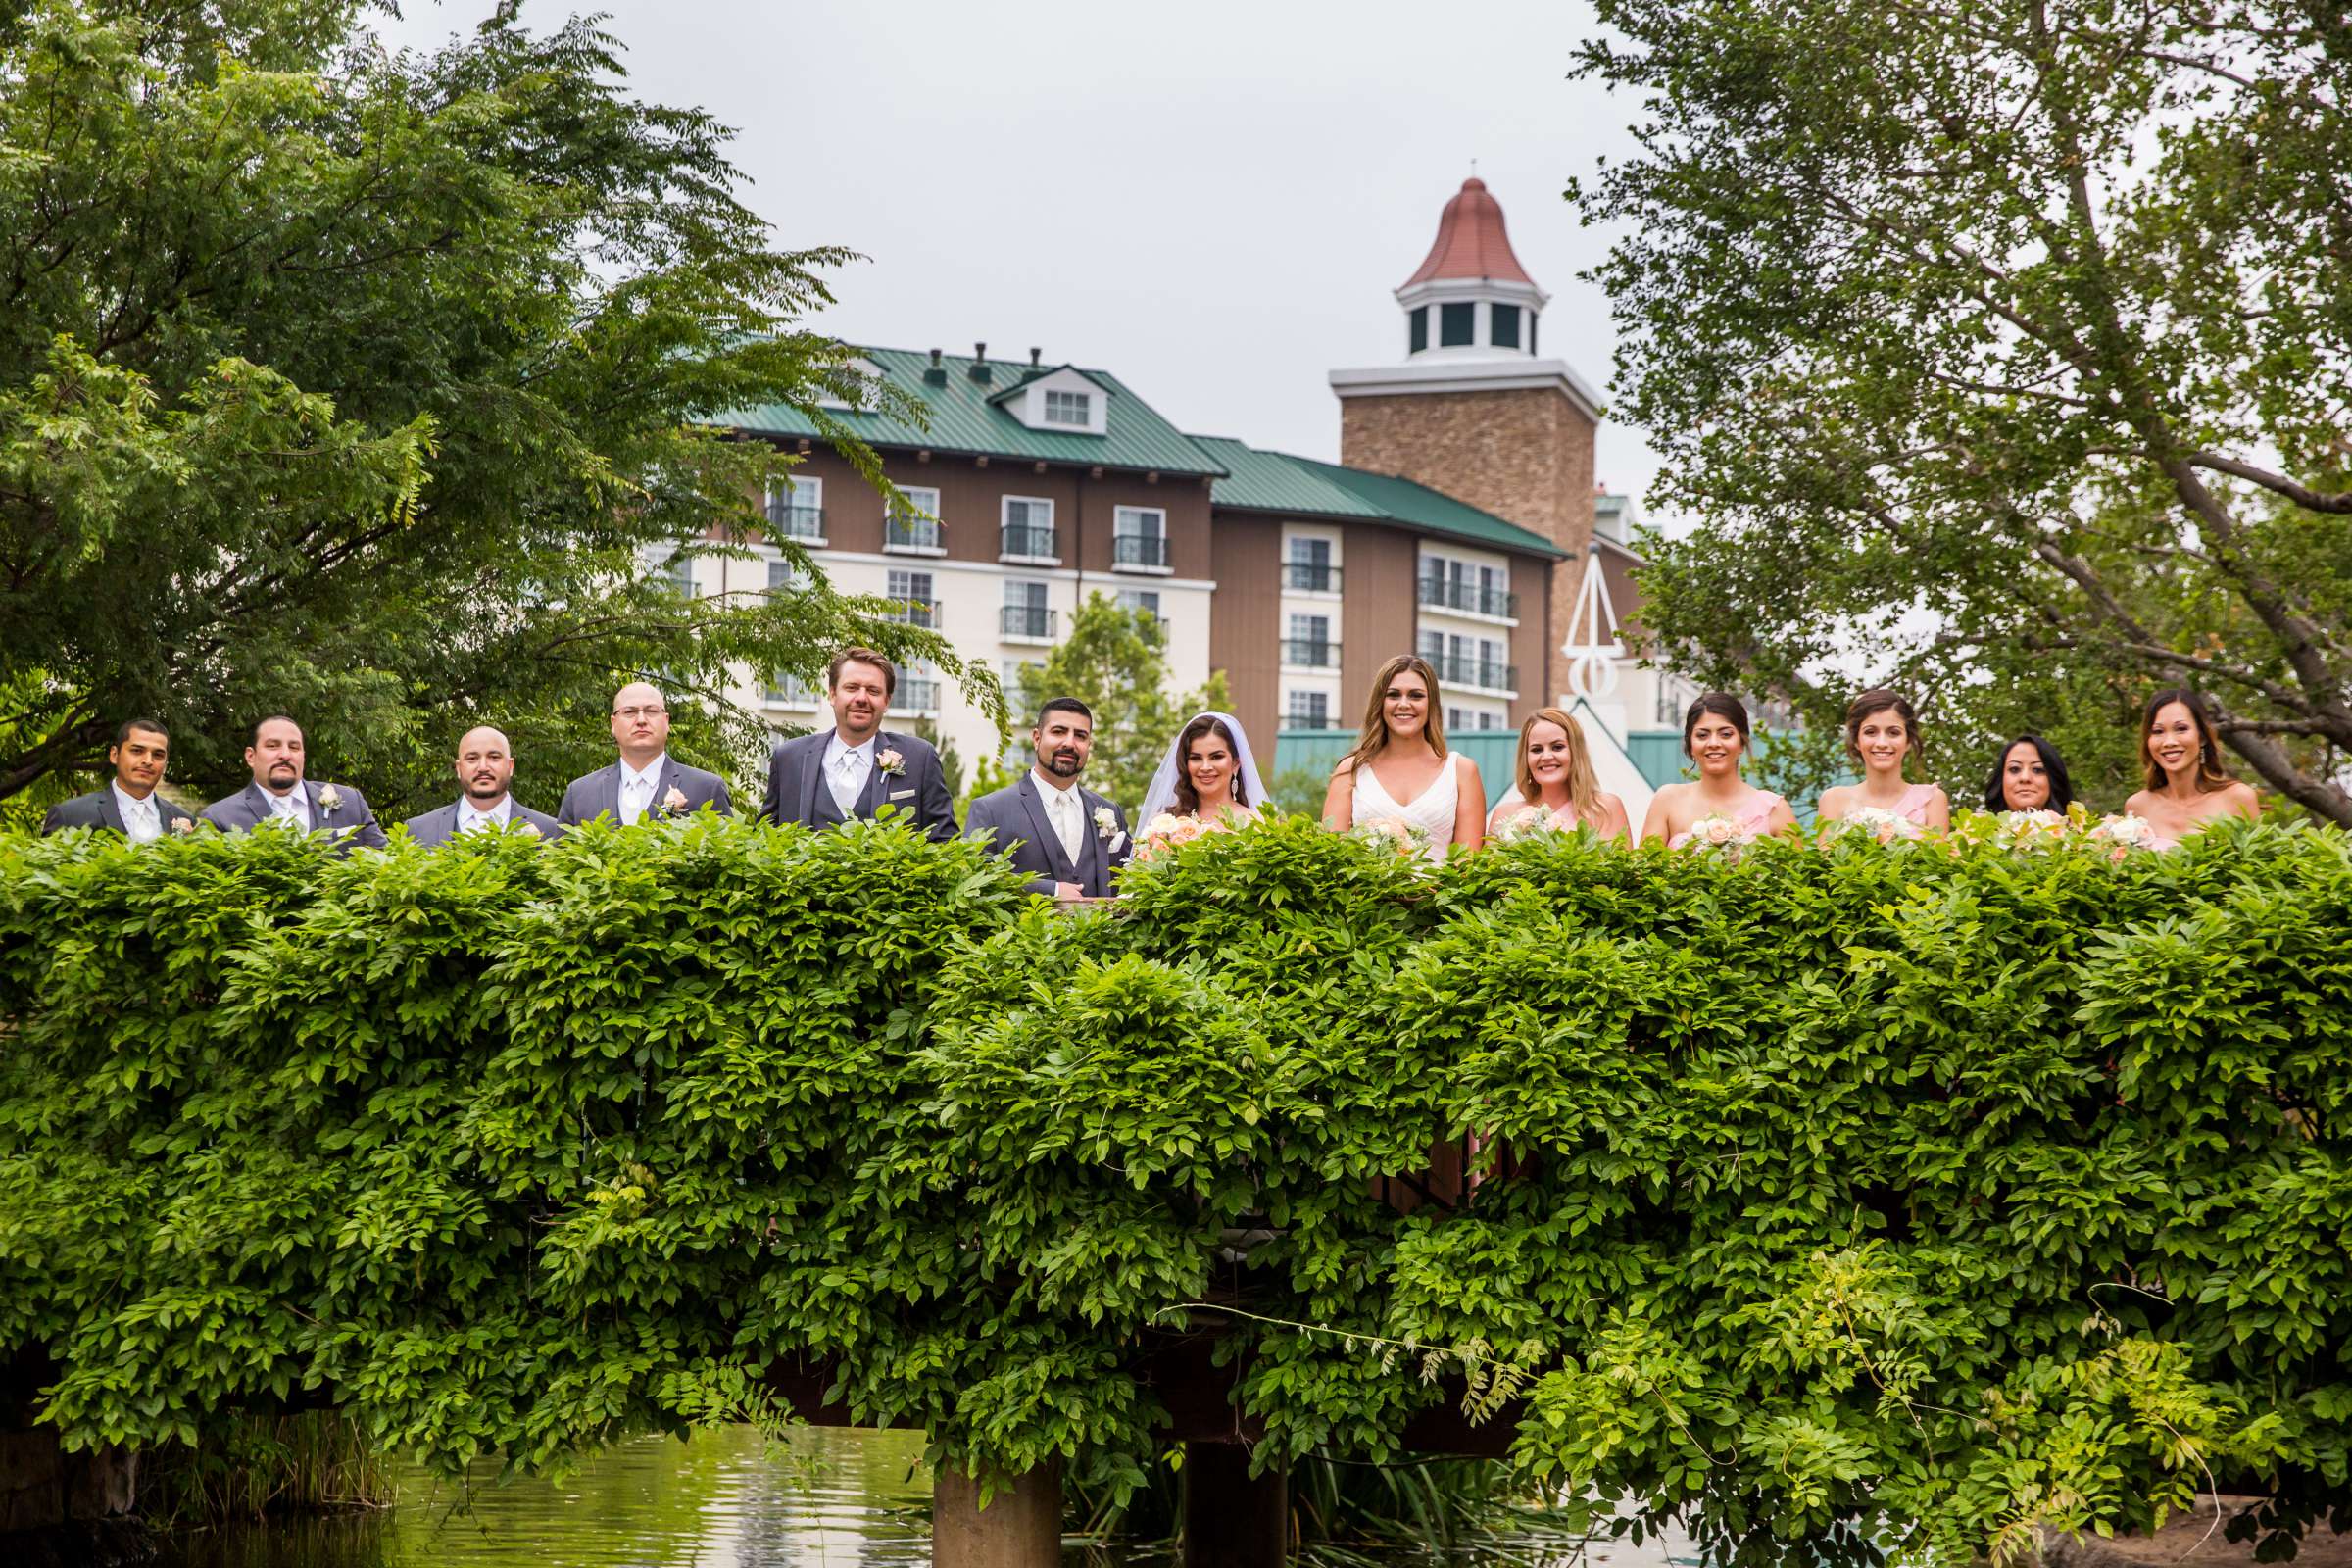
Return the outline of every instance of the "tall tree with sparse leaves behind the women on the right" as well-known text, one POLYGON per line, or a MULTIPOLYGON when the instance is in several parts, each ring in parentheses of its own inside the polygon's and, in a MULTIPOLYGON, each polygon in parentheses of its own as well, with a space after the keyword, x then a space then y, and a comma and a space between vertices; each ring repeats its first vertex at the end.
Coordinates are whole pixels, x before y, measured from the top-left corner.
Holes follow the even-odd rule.
POLYGON ((2352 21, 2244 0, 1599 0, 1639 153, 1623 411, 1703 524, 1651 541, 1677 668, 1957 750, 2053 733, 2103 806, 2199 684, 2352 825, 2352 21), (1837 679, 1837 672, 1856 679, 1837 679))

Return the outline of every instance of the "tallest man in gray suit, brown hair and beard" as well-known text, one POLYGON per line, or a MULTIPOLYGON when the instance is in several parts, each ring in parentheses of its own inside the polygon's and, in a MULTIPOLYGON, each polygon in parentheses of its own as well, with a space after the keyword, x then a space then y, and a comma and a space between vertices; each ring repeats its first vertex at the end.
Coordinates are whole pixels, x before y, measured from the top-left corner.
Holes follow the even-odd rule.
POLYGON ((953 839, 955 797, 938 752, 922 736, 882 729, 898 668, 873 649, 844 649, 826 670, 826 689, 833 729, 776 743, 760 816, 779 827, 840 827, 891 806, 934 839, 953 839))

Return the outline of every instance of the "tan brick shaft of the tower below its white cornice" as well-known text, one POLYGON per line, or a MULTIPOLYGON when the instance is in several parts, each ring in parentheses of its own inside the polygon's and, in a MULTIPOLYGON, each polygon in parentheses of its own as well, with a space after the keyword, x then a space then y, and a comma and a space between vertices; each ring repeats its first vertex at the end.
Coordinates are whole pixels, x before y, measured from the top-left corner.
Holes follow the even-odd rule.
MULTIPOLYGON (((1402 393, 1341 400, 1341 463, 1404 475, 1543 534, 1583 564, 1592 538, 1592 421, 1557 388, 1402 393)), ((1552 616, 1566 625, 1576 571, 1552 574, 1552 616)), ((1557 644, 1545 691, 1566 682, 1557 644)), ((1522 672, 1522 679, 1526 675, 1522 672)))

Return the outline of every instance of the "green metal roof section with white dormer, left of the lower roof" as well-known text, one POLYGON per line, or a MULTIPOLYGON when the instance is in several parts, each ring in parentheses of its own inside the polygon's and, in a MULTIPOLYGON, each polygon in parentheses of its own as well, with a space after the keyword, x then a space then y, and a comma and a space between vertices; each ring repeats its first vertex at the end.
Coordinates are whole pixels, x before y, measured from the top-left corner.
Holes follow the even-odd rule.
MULTIPOLYGON (((917 425, 891 414, 828 409, 842 428, 856 433, 870 447, 971 451, 1030 461, 1044 458, 1047 463, 1131 468, 1141 473, 1225 473, 1192 437, 1164 421, 1152 404, 1136 397, 1117 376, 1098 369, 1077 371, 1110 393, 1105 433, 1087 435, 1073 430, 1030 430, 1009 409, 990 402, 1011 386, 1051 374, 1051 369, 990 360, 990 378, 976 381, 971 367, 978 360, 941 355, 946 376, 934 383, 924 378, 924 371, 931 369, 931 355, 927 353, 913 348, 858 348, 856 353, 882 371, 882 381, 920 400, 929 411, 929 421, 917 425)), ((753 435, 823 440, 816 423, 790 404, 771 402, 755 409, 727 409, 724 414, 715 414, 710 423, 753 435)))

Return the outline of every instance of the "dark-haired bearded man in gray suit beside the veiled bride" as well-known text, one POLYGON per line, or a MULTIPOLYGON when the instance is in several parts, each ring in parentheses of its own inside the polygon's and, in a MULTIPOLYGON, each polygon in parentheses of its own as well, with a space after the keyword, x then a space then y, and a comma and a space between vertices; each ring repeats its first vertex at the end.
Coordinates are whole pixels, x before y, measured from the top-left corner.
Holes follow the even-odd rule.
POLYGON ((1120 867, 1136 851, 1127 816, 1077 783, 1094 755, 1094 710, 1058 696, 1037 710, 1030 731, 1037 762, 1021 783, 971 802, 964 837, 995 839, 1030 891, 1049 898, 1110 898, 1120 867))

